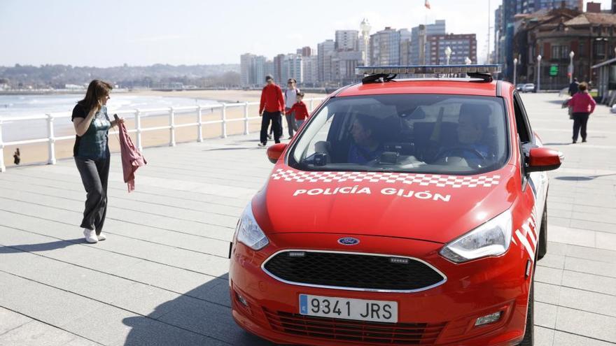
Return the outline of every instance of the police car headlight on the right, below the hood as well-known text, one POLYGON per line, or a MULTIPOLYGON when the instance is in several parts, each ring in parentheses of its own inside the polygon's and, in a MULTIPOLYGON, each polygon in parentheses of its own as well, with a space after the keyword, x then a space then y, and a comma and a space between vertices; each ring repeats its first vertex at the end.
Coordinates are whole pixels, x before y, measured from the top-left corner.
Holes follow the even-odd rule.
POLYGON ((445 245, 440 254, 455 263, 504 254, 511 243, 512 217, 506 210, 490 221, 445 245))

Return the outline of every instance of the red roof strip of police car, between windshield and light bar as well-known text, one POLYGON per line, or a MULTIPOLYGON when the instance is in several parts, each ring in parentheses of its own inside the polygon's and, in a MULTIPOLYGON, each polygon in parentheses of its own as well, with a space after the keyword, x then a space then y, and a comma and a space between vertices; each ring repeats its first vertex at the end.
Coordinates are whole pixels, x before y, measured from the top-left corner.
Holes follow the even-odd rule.
POLYGON ((388 82, 355 84, 341 89, 335 96, 363 96, 377 94, 456 94, 496 96, 497 82, 483 82, 469 78, 402 79, 388 82))

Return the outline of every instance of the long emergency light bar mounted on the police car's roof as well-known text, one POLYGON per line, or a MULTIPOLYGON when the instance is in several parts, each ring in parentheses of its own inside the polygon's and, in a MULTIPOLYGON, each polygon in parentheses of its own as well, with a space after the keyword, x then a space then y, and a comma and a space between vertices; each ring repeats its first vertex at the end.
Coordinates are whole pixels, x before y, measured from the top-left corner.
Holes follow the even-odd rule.
POLYGON ((500 73, 500 65, 411 65, 411 66, 358 66, 356 75, 374 74, 440 74, 440 73, 500 73))

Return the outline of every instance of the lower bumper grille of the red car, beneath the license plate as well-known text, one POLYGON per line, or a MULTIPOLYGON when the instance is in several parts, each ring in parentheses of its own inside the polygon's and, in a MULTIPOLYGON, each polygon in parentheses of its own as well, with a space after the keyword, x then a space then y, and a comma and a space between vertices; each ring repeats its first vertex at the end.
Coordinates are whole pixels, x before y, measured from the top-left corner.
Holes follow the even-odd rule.
POLYGON ((381 323, 312 317, 263 308, 274 331, 364 345, 433 345, 445 323, 381 323))

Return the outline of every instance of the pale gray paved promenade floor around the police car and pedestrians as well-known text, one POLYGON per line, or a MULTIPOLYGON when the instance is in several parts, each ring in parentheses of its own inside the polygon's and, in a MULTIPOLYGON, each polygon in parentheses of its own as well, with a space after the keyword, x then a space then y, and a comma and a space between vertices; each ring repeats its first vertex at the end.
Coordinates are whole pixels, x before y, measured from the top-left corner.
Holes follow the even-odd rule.
MULTIPOLYGON (((616 115, 600 106, 571 145, 556 94, 523 98, 566 156, 550 173, 535 345, 616 345, 616 115)), ((272 345, 235 325, 228 297, 228 242, 272 169, 257 137, 148 148, 132 194, 114 154, 95 245, 72 160, 0 173, 0 345, 272 345)))

